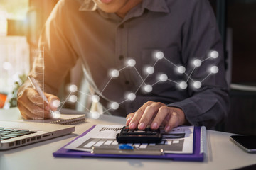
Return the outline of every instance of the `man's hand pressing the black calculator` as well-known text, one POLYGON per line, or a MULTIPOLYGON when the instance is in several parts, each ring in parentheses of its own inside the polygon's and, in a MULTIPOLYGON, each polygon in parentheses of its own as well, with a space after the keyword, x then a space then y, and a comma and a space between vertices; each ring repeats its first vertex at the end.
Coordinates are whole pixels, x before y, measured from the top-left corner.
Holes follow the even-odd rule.
POLYGON ((178 125, 187 123, 185 114, 180 108, 168 107, 164 103, 148 101, 134 113, 127 115, 127 125, 130 129, 138 126, 144 130, 147 125, 151 129, 157 129, 164 125, 164 130, 169 132, 178 125))

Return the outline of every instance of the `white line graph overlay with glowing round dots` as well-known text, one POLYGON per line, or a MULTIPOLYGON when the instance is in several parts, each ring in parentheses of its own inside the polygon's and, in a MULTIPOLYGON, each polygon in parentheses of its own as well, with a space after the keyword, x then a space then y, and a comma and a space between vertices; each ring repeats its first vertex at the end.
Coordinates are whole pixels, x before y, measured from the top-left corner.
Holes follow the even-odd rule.
MULTIPOLYGON (((78 97, 75 96, 75 95, 72 95, 72 94, 73 94, 74 92, 78 91, 80 94, 84 94, 84 95, 86 95, 86 96, 90 96, 90 98, 92 99, 92 101, 95 102, 95 103, 97 103, 97 102, 100 101, 100 97, 102 96, 102 93, 103 93, 103 92, 105 91, 105 89, 107 88, 108 84, 110 84, 110 81, 112 81, 112 79, 114 79, 114 78, 119 77, 119 72, 122 72, 122 70, 127 69, 128 67, 132 67, 132 68, 135 70, 135 72, 137 72, 139 79, 142 80, 142 83, 139 85, 139 87, 137 88, 136 91, 127 93, 127 96, 126 96, 126 98, 125 98, 124 101, 121 101, 121 102, 119 102, 119 103, 117 103, 116 101, 113 101, 112 103, 110 103, 110 107, 107 108, 107 110, 105 110, 103 113, 105 113, 105 112, 107 112, 107 111, 110 111, 110 110, 117 110, 117 109, 119 108, 119 105, 121 105, 121 104, 124 103, 124 102, 127 102, 127 101, 134 101, 135 98, 136 98, 137 92, 139 91, 139 89, 142 88, 143 85, 144 85, 144 86, 143 86, 143 89, 144 89, 144 91, 145 91, 146 93, 150 93, 150 92, 153 90, 153 86, 154 86, 154 85, 156 85, 156 84, 158 84, 158 83, 160 83, 160 82, 166 82, 166 81, 169 81, 169 82, 171 82, 171 83, 177 84, 178 87, 183 90, 183 89, 187 89, 187 87, 188 87, 188 81, 191 80, 192 83, 193 83, 193 87, 194 87, 195 89, 200 89, 201 86, 202 86, 202 82, 203 82, 203 81, 205 81, 208 77, 210 77, 211 74, 216 74, 216 73, 218 73, 218 67, 217 67, 217 66, 212 66, 212 67, 210 67, 210 73, 209 73, 203 80, 201 80, 201 81, 198 81, 198 80, 195 81, 195 80, 193 80, 193 79, 191 78, 191 76, 193 75, 193 72, 195 72, 196 68, 198 68, 198 67, 201 66, 202 62, 205 62, 206 60, 209 60, 209 59, 211 59, 211 58, 212 58, 212 59, 215 59, 215 58, 217 58, 218 56, 219 56, 218 52, 215 51, 215 50, 212 50, 212 51, 210 51, 210 52, 208 53, 208 57, 207 57, 206 59, 204 59, 204 60, 199 60, 199 59, 193 60, 193 66, 194 66, 194 67, 193 67, 192 71, 190 72, 190 74, 188 74, 188 73, 186 73, 186 68, 185 68, 185 67, 183 67, 183 66, 178 66, 178 65, 174 64, 173 62, 171 62, 170 60, 168 60, 166 57, 164 57, 164 52, 158 51, 158 52, 156 52, 156 53, 154 54, 154 57, 156 58, 156 62, 154 62, 153 66, 146 67, 145 71, 146 71, 147 75, 146 75, 146 77, 145 77, 144 79, 142 78, 142 75, 139 74, 139 71, 138 71, 137 68, 135 67, 136 61, 135 61, 134 59, 129 59, 129 60, 127 61, 127 65, 126 65, 125 67, 123 67, 122 69, 119 69, 119 70, 117 70, 117 69, 112 69, 112 70, 110 71, 110 79, 109 79, 109 81, 107 81, 107 84, 104 86, 104 88, 102 89, 102 91, 100 91, 100 94, 98 94, 98 95, 97 95, 97 94, 95 94, 95 95, 86 94, 86 93, 84 93, 84 92, 82 92, 82 91, 78 91, 78 87, 77 87, 77 86, 71 85, 70 88, 69 88, 69 89, 70 89, 70 94, 69 94, 68 97, 65 99, 65 101, 63 101, 63 102, 56 102, 56 103, 54 103, 54 104, 55 104, 56 107, 59 107, 60 104, 62 104, 62 105, 60 106, 58 112, 60 111, 61 108, 63 108, 63 105, 65 104, 65 102, 68 102, 68 101, 71 101, 71 102, 73 102, 73 103, 77 102, 80 106, 82 106, 83 108, 85 108, 86 111, 89 111, 89 112, 90 112, 90 110, 89 110, 88 108, 86 108, 84 105, 82 105, 82 103, 80 103, 80 102, 78 101, 78 97), (159 80, 157 80, 154 84, 151 84, 151 85, 150 85, 150 84, 146 84, 146 79, 149 77, 149 75, 151 75, 151 74, 154 73, 154 71, 155 71, 155 70, 154 70, 154 67, 156 66, 157 62, 159 62, 159 60, 162 60, 162 59, 164 59, 164 60, 166 60, 167 62, 169 62, 170 64, 172 64, 172 65, 176 68, 178 74, 185 74, 186 77, 188 77, 188 78, 186 79, 186 81, 181 81, 181 82, 174 81, 174 80, 169 79, 166 74, 161 74, 161 75, 159 76, 159 80)), ((100 113, 93 112, 92 114, 95 114, 94 116, 92 115, 92 117, 98 118, 98 116, 99 116, 100 113)))

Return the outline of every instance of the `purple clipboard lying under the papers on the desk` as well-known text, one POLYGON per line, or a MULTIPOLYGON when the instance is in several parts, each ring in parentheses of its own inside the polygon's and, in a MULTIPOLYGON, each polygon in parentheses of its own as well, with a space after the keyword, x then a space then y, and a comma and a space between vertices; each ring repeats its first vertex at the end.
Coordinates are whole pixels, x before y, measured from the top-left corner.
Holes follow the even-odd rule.
MULTIPOLYGON (((86 130, 75 138, 84 136, 87 132, 90 132, 96 125, 93 125, 90 129, 86 130)), ((71 142, 75 141, 72 140, 71 142)), ((142 159, 172 159, 175 161, 203 161, 203 152, 201 153, 201 127, 194 127, 193 135, 193 154, 163 154, 163 155, 132 155, 132 154, 92 154, 91 152, 76 151, 72 149, 65 149, 64 147, 69 145, 69 142, 64 147, 61 147, 56 152, 53 152, 54 157, 112 157, 112 158, 142 158, 142 159)))

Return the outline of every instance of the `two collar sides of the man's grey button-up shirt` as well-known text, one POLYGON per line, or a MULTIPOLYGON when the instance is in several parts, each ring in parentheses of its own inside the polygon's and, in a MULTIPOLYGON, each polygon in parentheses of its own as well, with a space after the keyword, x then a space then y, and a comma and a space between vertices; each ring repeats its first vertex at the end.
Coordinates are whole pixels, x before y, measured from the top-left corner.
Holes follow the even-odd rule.
MULTIPOLYGON (((146 8, 149 11, 169 13, 169 8, 165 0, 143 0, 142 8, 146 8)), ((97 5, 92 0, 83 1, 79 8, 79 11, 95 11, 97 5)))

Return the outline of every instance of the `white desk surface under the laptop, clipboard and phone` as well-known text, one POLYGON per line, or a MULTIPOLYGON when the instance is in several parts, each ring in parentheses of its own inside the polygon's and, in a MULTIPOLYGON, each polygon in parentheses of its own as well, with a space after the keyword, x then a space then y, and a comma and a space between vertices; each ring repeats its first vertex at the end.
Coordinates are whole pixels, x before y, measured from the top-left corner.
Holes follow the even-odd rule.
MULTIPOLYGON (((75 111, 73 111, 75 113, 75 111)), ((21 118, 18 109, 0 110, 0 120, 21 118)), ((174 162, 159 159, 55 158, 53 152, 94 124, 124 125, 125 119, 102 115, 88 118, 71 135, 0 152, 0 169, 236 169, 256 164, 256 154, 247 154, 229 140, 230 133, 208 130, 208 156, 204 162, 174 162)))

